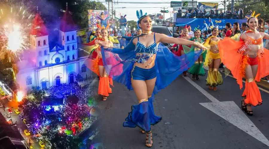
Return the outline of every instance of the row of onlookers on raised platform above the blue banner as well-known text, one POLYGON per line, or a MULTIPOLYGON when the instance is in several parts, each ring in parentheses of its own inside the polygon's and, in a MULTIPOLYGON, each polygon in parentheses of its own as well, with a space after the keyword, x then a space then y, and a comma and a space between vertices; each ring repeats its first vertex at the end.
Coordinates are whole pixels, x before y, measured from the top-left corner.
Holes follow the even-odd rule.
MULTIPOLYGON (((182 16, 182 10, 179 8, 178 13, 182 16)), ((252 10, 250 10, 245 15, 252 15, 252 10)), ((199 10, 198 7, 194 8, 193 10, 191 8, 188 8, 188 10, 184 13, 182 18, 228 18, 228 19, 244 19, 244 11, 242 8, 239 8, 238 10, 234 10, 231 12, 230 9, 224 10, 218 10, 218 9, 212 9, 210 11, 199 10)))

